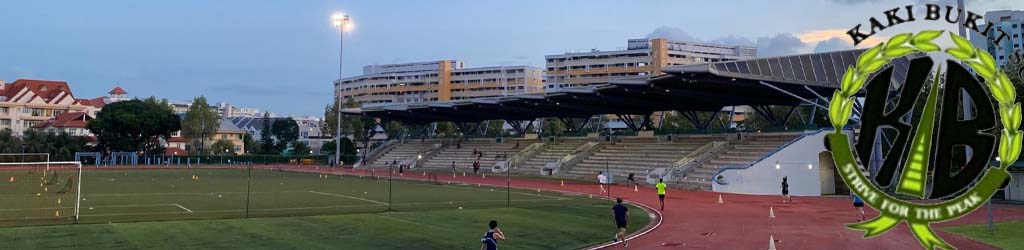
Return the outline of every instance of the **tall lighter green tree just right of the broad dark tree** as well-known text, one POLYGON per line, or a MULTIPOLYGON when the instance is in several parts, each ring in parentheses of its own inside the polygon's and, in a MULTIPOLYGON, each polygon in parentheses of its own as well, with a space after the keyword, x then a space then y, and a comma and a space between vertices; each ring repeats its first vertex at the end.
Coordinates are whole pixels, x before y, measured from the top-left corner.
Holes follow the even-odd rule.
POLYGON ((193 143, 191 152, 207 154, 205 140, 216 134, 219 127, 220 115, 217 114, 217 110, 206 102, 206 97, 200 95, 193 99, 191 106, 185 112, 185 118, 181 120, 181 135, 191 141, 198 141, 198 148, 197 143, 193 143))

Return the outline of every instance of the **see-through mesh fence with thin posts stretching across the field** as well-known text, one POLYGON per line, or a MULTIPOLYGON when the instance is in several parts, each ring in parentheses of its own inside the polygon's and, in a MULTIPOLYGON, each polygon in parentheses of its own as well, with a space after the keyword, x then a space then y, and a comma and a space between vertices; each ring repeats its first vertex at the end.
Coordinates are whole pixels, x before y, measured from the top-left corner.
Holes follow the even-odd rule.
MULTIPOLYGON (((80 223, 564 207, 605 202, 599 197, 514 189, 517 180, 508 173, 487 168, 474 173, 468 166, 437 171, 404 166, 341 169, 325 164, 327 156, 168 159, 174 160, 162 165, 84 165, 81 177, 48 173, 60 176, 60 181, 52 183, 41 182, 39 171, 0 168, 0 175, 12 176, 12 181, 0 189, 0 211, 33 215, 0 215, 0 226, 74 222, 66 219, 67 215, 53 215, 66 205, 60 202, 73 201, 65 198, 67 193, 58 193, 57 185, 67 182, 81 184, 81 193, 77 194, 81 195, 80 223)), ((140 161, 144 162, 144 158, 140 161)))

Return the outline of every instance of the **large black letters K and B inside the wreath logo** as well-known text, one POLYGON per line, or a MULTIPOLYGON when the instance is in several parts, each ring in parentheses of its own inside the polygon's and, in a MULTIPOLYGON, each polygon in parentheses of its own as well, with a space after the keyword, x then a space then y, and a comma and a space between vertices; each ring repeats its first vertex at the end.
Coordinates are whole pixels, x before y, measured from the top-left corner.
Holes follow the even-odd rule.
MULTIPOLYGON (((857 139, 857 155, 865 165, 871 155, 882 159, 874 180, 880 186, 886 187, 897 181, 897 170, 907 158, 916 126, 910 122, 914 112, 922 112, 928 92, 924 87, 940 87, 941 99, 937 102, 939 114, 936 115, 931 142, 930 174, 932 189, 928 198, 943 198, 956 194, 970 185, 981 174, 991 159, 995 136, 988 133, 995 126, 994 110, 989 94, 984 86, 964 67, 949 60, 948 71, 942 86, 932 86, 929 74, 932 73, 933 61, 929 57, 910 60, 906 78, 899 88, 899 98, 890 98, 892 87, 892 68, 880 72, 867 84, 867 97, 864 101, 864 112, 861 118, 861 130, 857 139), (973 103, 971 117, 965 117, 962 95, 966 94, 973 103), (891 129, 888 136, 881 135, 881 129, 891 129), (895 133, 892 131, 894 130, 895 133), (876 141, 881 143, 876 143, 876 141), (891 147, 885 147, 889 145, 891 147), (884 145, 876 151, 874 147, 884 145)), ((905 171, 905 170, 904 170, 905 171)))

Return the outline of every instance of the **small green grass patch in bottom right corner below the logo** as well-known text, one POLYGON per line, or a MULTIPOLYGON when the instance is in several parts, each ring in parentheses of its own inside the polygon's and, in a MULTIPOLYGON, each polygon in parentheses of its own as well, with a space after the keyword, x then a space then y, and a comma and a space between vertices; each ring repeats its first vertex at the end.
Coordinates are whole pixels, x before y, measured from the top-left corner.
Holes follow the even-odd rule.
POLYGON ((994 234, 988 224, 943 226, 939 230, 961 235, 1002 249, 1024 249, 1024 221, 996 222, 994 234))

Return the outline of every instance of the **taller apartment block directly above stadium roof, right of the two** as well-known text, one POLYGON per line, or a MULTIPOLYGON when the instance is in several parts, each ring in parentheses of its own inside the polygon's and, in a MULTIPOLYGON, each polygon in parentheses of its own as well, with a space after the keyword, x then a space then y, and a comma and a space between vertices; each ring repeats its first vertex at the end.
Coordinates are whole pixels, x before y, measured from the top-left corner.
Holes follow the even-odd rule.
POLYGON ((545 55, 549 89, 607 83, 615 79, 660 75, 662 68, 754 58, 757 48, 664 38, 630 39, 625 50, 545 55))

